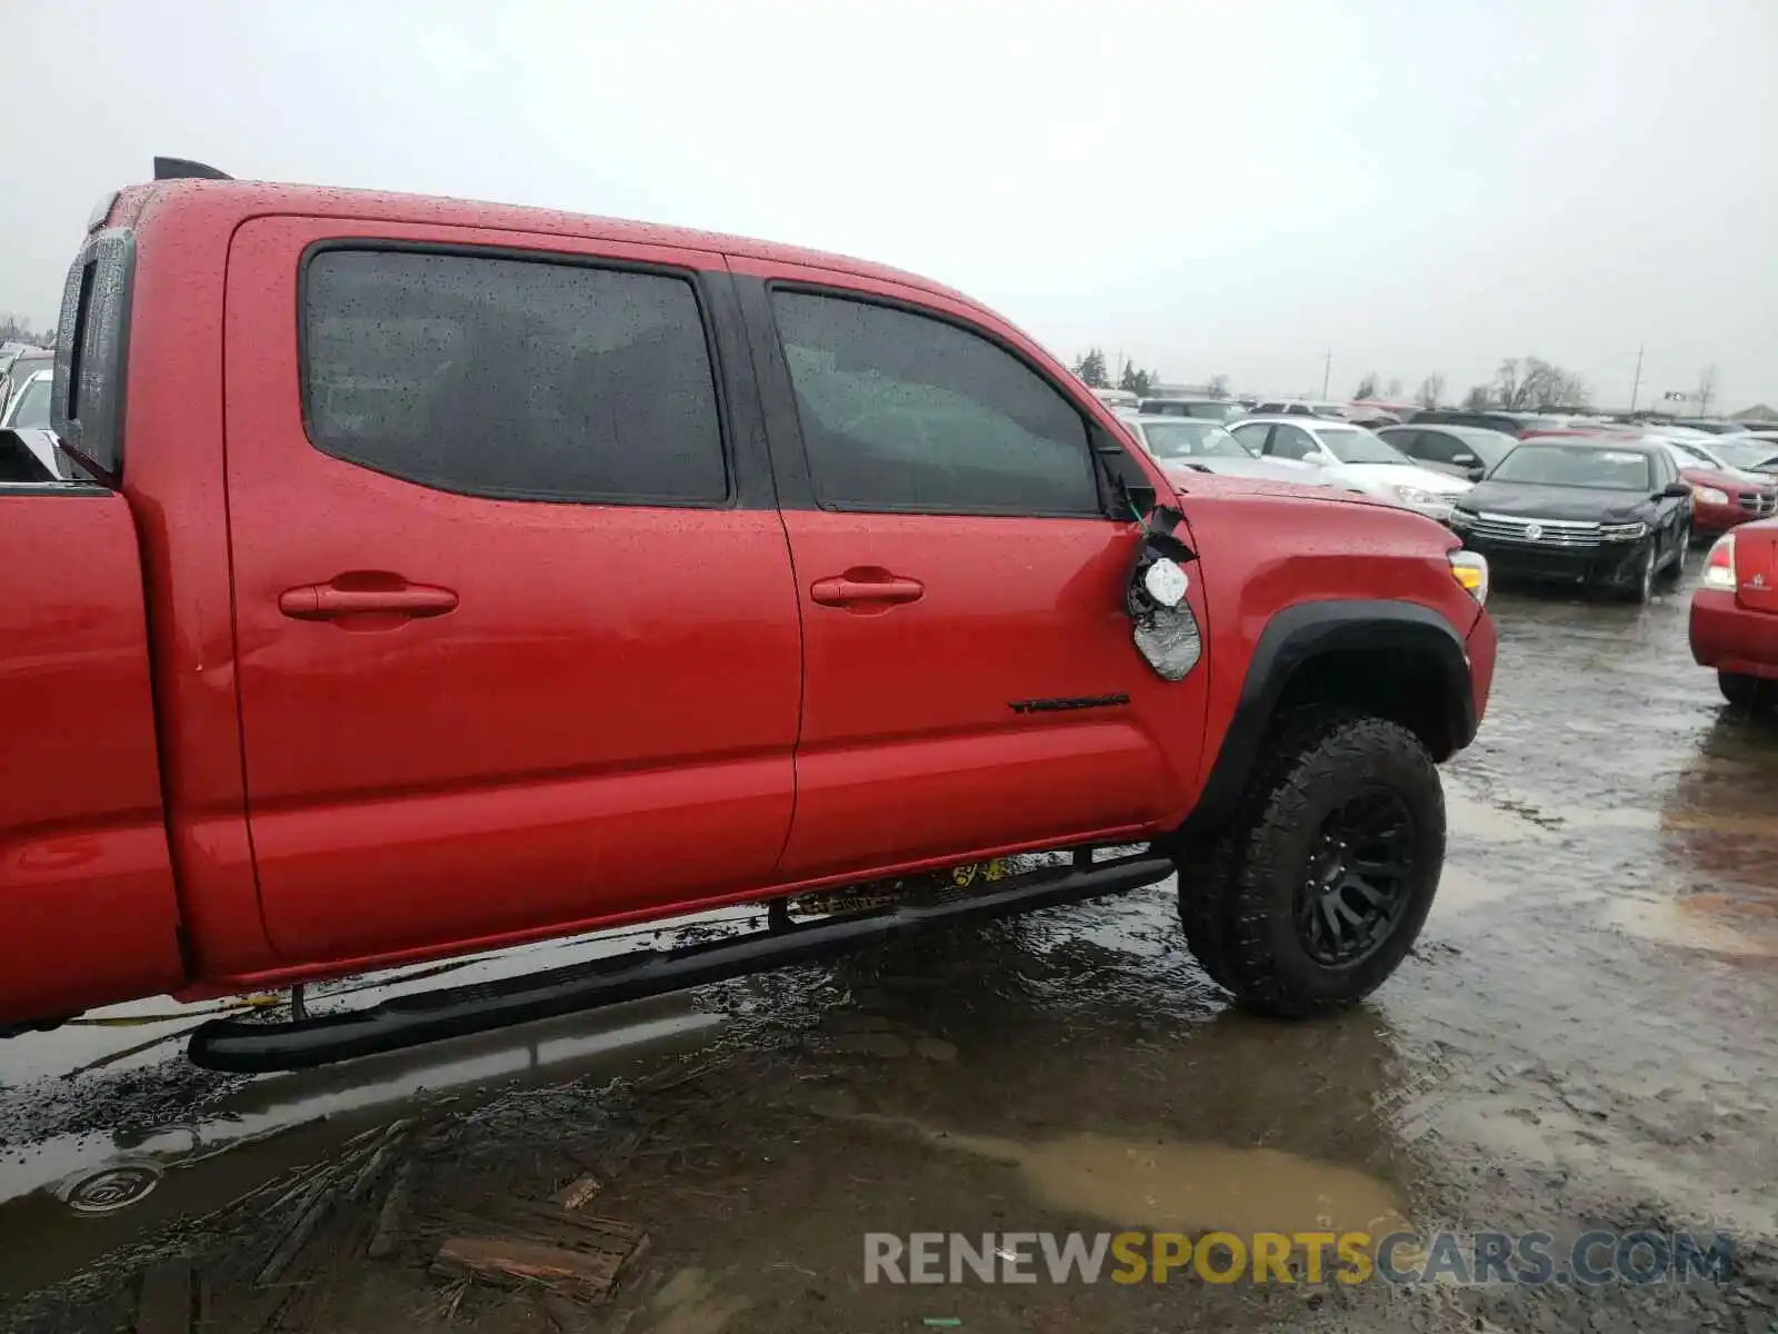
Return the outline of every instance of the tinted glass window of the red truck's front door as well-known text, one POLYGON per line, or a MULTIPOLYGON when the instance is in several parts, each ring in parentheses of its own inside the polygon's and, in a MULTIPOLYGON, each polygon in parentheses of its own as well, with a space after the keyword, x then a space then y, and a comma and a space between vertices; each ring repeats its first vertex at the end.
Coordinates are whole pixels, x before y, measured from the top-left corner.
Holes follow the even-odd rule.
POLYGON ((1086 420, 1010 352, 862 301, 772 304, 823 507, 1099 514, 1086 420))

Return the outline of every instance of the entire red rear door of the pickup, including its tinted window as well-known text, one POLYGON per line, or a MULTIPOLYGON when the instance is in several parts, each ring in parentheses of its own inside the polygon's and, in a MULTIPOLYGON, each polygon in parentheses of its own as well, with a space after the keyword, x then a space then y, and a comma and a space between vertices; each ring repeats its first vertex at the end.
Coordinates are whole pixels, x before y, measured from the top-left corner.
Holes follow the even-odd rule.
POLYGON ((228 293, 279 953, 509 941, 765 882, 802 646, 722 258, 263 217, 228 293))

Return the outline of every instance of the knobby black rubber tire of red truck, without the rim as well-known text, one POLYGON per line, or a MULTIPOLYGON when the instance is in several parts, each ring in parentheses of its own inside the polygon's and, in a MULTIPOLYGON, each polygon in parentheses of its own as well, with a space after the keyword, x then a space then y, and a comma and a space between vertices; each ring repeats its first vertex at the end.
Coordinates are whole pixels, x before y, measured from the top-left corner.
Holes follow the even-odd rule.
POLYGON ((1383 719, 1301 713, 1269 751, 1229 831, 1179 852, 1179 918, 1198 964, 1243 1009, 1298 1019, 1369 996, 1414 946, 1444 864, 1444 788, 1421 740, 1383 719), (1412 816, 1408 898, 1373 953, 1328 968, 1298 939, 1296 888, 1326 816, 1366 786, 1399 793, 1412 816))

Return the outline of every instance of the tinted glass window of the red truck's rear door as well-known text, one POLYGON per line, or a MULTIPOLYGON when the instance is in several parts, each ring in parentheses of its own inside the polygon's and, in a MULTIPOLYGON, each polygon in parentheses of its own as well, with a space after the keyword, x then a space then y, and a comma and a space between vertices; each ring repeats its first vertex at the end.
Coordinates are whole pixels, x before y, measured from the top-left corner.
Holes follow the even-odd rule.
POLYGON ((308 267, 309 438, 443 491, 717 503, 717 388, 683 277, 324 251, 308 267))

